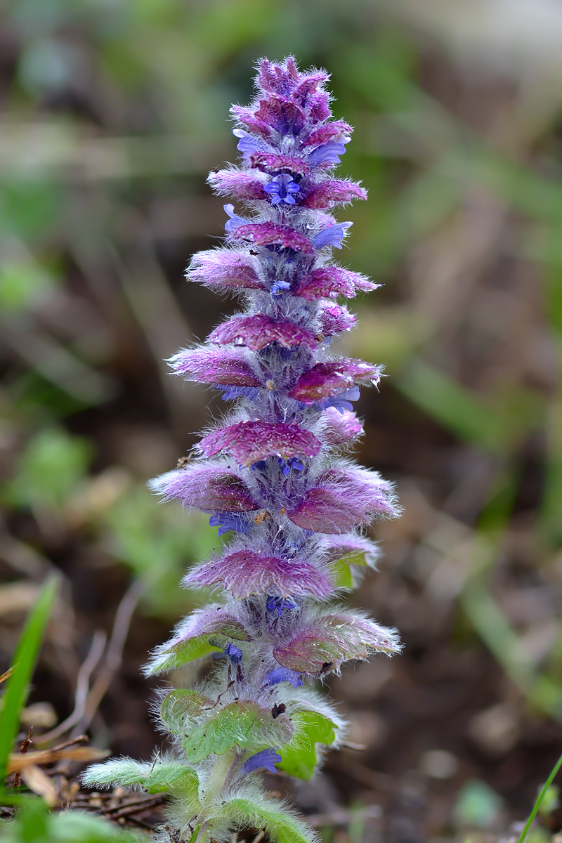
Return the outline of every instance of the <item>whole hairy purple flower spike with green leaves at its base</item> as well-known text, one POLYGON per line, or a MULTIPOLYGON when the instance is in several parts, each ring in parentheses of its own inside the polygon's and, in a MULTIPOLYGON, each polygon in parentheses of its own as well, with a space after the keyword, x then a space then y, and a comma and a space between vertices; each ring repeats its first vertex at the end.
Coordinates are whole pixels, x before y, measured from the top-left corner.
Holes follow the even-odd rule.
POLYGON ((343 454, 362 432, 359 387, 377 386, 383 370, 330 349, 355 325, 338 299, 377 285, 332 260, 351 226, 333 209, 367 192, 334 177, 352 129, 331 119, 328 79, 300 72, 292 56, 264 59, 254 102, 233 106, 238 165, 209 175, 233 200, 224 244, 195 255, 187 277, 241 294, 244 311, 169 359, 180 377, 221 390, 231 410, 185 468, 151 484, 227 536, 183 581, 216 602, 188 615, 146 668, 179 679, 160 695, 169 755, 111 760, 84 776, 169 792, 163 837, 180 843, 226 843, 244 826, 313 843, 285 803, 265 797, 263 771, 313 776, 345 728, 313 685, 346 661, 399 651, 393 630, 340 602, 377 560, 362 533, 399 507, 390 483, 343 454))

